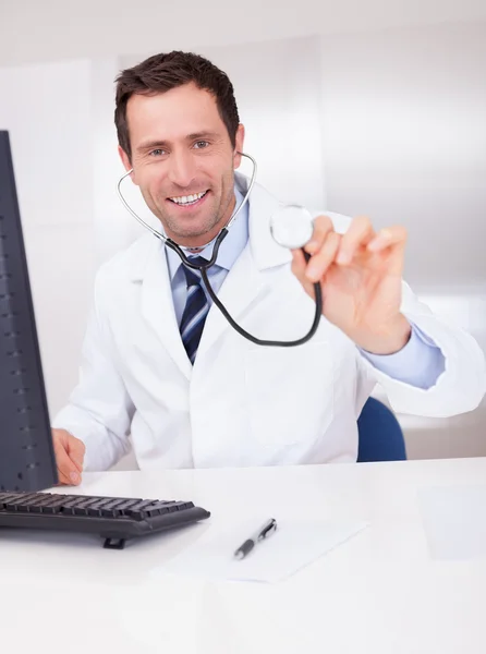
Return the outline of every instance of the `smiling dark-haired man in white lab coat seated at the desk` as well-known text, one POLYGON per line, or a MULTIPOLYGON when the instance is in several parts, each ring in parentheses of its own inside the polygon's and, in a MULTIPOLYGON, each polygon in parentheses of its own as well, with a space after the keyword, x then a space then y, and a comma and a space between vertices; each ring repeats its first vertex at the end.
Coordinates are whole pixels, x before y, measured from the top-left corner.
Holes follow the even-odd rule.
MULTIPOLYGON (((116 124, 166 234, 209 259, 247 187, 234 172, 244 128, 227 75, 192 53, 151 57, 119 75, 116 124)), ((307 265, 272 241, 277 207, 255 185, 209 280, 247 331, 271 340, 306 334, 320 282, 317 334, 296 348, 244 339, 147 233, 97 276, 80 384, 53 422, 61 482, 113 465, 129 435, 141 469, 355 461, 356 420, 377 383, 400 412, 477 407, 483 353, 402 281, 402 227, 375 233, 366 217, 319 216, 307 265)))

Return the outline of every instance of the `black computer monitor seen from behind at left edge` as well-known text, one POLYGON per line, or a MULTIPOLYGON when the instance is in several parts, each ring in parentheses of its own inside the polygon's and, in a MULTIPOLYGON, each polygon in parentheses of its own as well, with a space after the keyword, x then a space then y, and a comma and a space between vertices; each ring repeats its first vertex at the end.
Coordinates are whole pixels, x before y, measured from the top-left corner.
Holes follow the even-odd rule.
POLYGON ((10 140, 0 131, 0 492, 57 482, 10 140))

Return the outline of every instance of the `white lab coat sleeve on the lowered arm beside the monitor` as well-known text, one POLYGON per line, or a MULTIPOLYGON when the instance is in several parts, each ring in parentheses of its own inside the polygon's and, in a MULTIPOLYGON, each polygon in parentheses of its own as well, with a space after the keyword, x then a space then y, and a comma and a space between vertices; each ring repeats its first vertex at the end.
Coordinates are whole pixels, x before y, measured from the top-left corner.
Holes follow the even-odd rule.
POLYGON ((52 427, 86 446, 84 470, 108 470, 130 450, 133 403, 110 353, 111 343, 96 302, 83 343, 80 380, 52 427))

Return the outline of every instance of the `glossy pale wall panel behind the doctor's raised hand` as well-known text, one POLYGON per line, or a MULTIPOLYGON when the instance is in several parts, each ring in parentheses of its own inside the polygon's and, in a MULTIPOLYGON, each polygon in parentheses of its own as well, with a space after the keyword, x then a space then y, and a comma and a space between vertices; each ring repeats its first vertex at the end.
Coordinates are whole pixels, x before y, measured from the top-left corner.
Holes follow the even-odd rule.
MULTIPOLYGON (((321 70, 328 208, 404 225, 406 280, 486 351, 486 22, 326 36, 321 70)), ((486 455, 486 400, 399 420, 412 457, 486 455)))

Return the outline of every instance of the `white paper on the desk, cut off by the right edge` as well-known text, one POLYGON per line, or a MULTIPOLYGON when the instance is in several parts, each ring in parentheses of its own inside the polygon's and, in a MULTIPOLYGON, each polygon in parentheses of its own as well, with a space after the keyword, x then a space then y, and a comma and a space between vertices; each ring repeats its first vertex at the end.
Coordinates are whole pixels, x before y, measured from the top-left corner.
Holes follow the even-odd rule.
POLYGON ((486 556, 486 485, 423 488, 418 499, 432 558, 486 556))

